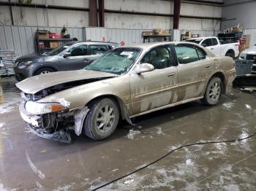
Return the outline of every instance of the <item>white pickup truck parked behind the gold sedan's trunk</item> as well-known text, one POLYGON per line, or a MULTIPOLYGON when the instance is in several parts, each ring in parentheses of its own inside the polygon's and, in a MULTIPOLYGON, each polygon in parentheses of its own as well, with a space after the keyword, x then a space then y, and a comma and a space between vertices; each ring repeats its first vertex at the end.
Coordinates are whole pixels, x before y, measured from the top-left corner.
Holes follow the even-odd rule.
POLYGON ((222 41, 215 36, 199 37, 187 39, 187 42, 195 42, 197 44, 206 47, 208 50, 217 56, 230 56, 231 58, 236 58, 239 55, 239 42, 224 44, 222 41))

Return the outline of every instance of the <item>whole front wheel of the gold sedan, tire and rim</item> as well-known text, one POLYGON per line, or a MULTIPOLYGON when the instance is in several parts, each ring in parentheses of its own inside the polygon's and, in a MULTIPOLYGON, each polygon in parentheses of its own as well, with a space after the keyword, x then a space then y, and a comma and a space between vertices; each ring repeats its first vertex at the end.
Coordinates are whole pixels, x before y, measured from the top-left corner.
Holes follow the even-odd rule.
POLYGON ((84 133, 91 139, 106 139, 118 125, 120 114, 116 101, 102 98, 92 102, 89 109, 83 124, 84 133))

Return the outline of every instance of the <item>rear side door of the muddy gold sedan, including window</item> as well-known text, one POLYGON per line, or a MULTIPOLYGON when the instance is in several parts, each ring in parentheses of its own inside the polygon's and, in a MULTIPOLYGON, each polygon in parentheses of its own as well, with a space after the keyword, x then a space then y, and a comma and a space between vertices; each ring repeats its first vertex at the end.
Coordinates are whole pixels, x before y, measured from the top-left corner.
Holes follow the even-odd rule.
POLYGON ((203 89, 211 74, 213 61, 200 47, 176 44, 178 61, 178 101, 203 95, 203 89))

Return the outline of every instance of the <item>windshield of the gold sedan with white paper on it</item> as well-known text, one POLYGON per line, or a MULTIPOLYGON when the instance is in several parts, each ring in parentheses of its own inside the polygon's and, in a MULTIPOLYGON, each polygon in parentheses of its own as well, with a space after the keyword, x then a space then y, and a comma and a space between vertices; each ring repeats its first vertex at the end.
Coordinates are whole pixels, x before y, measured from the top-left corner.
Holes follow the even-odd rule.
POLYGON ((134 47, 120 47, 102 55, 98 60, 86 66, 86 70, 104 71, 113 74, 123 74, 132 66, 140 55, 141 49, 134 47))

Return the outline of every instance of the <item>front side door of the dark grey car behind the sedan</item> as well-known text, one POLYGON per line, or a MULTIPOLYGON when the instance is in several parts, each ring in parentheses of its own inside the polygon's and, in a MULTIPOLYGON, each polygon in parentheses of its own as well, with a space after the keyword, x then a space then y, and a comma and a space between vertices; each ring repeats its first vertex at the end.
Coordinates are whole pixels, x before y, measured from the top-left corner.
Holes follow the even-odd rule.
POLYGON ((80 44, 76 47, 72 47, 67 52, 71 55, 64 58, 60 58, 59 66, 61 70, 78 70, 86 67, 90 62, 90 56, 88 54, 88 48, 86 44, 80 44))

